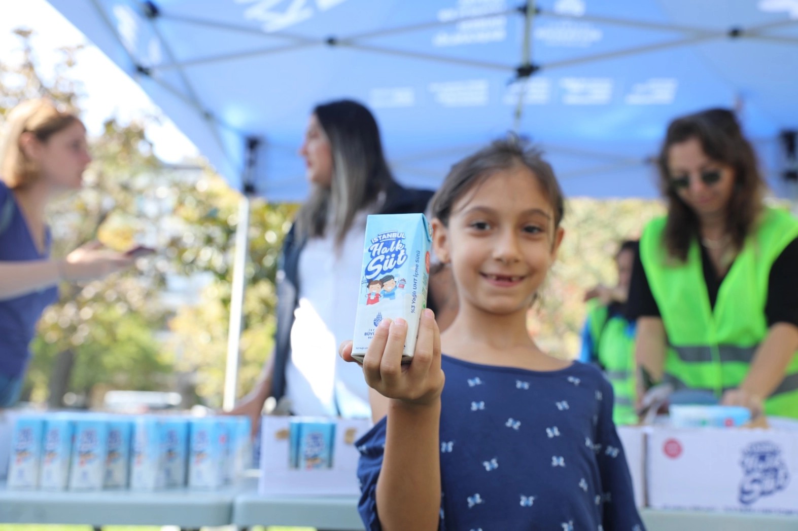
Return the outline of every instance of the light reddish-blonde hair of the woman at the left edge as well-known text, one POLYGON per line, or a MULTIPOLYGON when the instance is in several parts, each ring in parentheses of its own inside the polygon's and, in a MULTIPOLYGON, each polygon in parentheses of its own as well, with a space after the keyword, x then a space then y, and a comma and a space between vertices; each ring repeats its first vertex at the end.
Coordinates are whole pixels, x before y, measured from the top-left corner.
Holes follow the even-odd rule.
POLYGON ((22 150, 23 133, 32 133, 45 143, 50 136, 81 120, 72 112, 59 110, 50 100, 28 100, 6 116, 0 142, 0 179, 11 189, 30 186, 39 178, 38 165, 22 150))

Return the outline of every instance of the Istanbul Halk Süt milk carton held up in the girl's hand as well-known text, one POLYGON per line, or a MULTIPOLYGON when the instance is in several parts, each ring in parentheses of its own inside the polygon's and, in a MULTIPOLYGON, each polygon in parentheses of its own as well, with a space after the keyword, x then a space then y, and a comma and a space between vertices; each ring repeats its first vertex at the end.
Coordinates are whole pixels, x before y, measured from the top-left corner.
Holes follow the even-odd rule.
POLYGON ((374 330, 386 317, 407 321, 402 362, 413 357, 421 311, 427 303, 431 243, 424 214, 368 217, 352 357, 363 360, 374 330))

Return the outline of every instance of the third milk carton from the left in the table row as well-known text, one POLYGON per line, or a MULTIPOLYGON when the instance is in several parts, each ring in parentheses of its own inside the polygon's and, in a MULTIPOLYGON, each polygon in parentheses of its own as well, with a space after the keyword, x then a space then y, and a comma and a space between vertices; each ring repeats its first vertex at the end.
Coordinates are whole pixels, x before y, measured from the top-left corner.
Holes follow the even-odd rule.
POLYGON ((108 422, 95 415, 75 421, 69 490, 102 490, 108 458, 108 422))

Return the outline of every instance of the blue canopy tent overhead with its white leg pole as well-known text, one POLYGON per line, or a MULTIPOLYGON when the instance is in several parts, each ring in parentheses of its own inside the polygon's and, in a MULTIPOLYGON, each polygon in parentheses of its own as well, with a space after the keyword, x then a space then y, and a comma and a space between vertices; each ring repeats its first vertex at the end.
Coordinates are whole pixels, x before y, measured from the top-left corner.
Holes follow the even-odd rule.
POLYGON ((368 104, 397 178, 436 187, 516 130, 568 196, 655 197, 667 122, 737 108, 795 194, 798 0, 50 0, 244 192, 225 407, 235 399, 249 195, 306 195, 314 104, 368 104))

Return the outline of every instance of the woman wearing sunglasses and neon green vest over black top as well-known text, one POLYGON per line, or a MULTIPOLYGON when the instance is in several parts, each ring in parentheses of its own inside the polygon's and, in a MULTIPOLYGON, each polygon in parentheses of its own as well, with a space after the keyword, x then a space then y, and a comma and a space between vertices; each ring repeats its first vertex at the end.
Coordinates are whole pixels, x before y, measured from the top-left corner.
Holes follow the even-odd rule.
POLYGON ((643 231, 628 303, 644 380, 798 418, 798 219, 764 205, 725 109, 671 122, 658 167, 668 211, 643 231))

